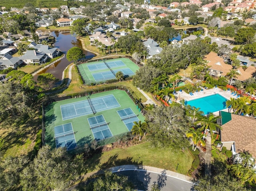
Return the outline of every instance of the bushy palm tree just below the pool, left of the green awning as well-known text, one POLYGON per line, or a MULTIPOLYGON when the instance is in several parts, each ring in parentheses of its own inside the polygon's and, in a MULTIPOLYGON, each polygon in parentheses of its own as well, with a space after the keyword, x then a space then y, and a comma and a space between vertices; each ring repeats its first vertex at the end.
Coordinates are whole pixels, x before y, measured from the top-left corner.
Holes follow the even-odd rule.
POLYGON ((202 117, 196 124, 201 124, 201 126, 205 129, 209 129, 211 135, 212 131, 216 131, 217 128, 222 130, 221 126, 217 124, 217 119, 220 118, 220 116, 214 116, 213 113, 210 113, 207 117, 202 117))

